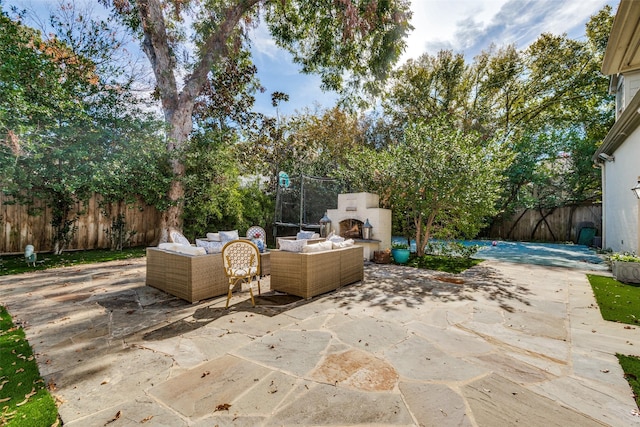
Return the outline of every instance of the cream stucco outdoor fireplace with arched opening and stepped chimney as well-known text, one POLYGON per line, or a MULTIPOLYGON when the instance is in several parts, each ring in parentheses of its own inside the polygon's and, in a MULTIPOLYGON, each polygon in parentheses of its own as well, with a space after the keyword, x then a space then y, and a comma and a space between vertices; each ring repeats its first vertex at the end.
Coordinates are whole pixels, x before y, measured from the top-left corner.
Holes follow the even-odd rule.
POLYGON ((374 251, 391 247, 391 211, 379 206, 377 194, 347 193, 338 195, 337 209, 327 210, 333 231, 363 246, 367 260, 373 258, 374 251), (364 231, 369 226, 369 231, 364 231))

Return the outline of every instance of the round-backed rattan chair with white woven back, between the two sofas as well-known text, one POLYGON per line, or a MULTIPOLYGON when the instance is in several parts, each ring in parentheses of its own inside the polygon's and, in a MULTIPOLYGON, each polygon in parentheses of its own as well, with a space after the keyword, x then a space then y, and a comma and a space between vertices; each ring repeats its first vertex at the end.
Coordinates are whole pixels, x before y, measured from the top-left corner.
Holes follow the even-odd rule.
POLYGON ((249 284, 251 304, 255 307, 256 302, 253 299, 251 283, 254 277, 258 280, 258 295, 260 295, 260 250, 258 247, 248 240, 232 240, 222 247, 222 262, 224 273, 229 279, 225 308, 229 308, 233 289, 244 282, 249 284))

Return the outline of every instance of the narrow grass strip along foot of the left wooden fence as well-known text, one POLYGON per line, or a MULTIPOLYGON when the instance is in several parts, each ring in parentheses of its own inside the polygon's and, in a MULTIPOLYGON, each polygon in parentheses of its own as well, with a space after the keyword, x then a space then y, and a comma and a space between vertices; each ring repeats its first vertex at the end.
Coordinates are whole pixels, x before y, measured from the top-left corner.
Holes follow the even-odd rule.
POLYGON ((91 251, 64 252, 61 255, 51 253, 38 254, 36 266, 27 265, 22 255, 3 255, 0 257, 0 276, 20 274, 28 271, 45 270, 47 268, 68 267, 78 264, 115 261, 119 259, 139 258, 145 256, 146 247, 125 248, 121 251, 97 249, 91 251))

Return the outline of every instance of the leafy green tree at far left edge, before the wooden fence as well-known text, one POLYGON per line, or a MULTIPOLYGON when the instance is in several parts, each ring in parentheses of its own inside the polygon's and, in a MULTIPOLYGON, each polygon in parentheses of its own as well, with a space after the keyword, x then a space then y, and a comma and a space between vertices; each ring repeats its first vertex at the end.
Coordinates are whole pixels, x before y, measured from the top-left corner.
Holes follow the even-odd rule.
MULTIPOLYGON (((96 79, 90 61, 63 42, 0 14, 0 129, 7 159, 3 190, 17 202, 52 210, 54 251, 73 235, 75 203, 88 197, 96 159, 83 94, 96 79), (82 129, 82 132, 79 130, 82 129), (84 144, 74 144, 83 139, 84 144), (7 150, 8 149, 8 150, 7 150)), ((3 153, 5 154, 5 153, 3 153)), ((4 156, 3 156, 4 157, 4 156)))

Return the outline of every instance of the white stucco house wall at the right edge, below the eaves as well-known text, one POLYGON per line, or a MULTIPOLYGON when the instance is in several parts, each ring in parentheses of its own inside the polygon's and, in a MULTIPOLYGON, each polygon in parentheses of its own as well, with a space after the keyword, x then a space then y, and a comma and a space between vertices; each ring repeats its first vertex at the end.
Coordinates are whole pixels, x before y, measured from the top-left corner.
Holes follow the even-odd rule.
POLYGON ((602 164, 602 247, 616 252, 640 253, 640 203, 631 191, 640 176, 640 129, 634 130, 613 156, 612 162, 602 164))

